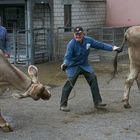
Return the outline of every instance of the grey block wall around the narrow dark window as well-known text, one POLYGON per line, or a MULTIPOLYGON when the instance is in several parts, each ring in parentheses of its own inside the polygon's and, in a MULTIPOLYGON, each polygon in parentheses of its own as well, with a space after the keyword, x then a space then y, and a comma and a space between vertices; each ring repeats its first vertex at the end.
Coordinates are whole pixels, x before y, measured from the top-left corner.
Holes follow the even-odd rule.
POLYGON ((54 0, 54 28, 64 27, 64 4, 72 5, 72 27, 84 28, 104 26, 106 19, 105 1, 54 0))

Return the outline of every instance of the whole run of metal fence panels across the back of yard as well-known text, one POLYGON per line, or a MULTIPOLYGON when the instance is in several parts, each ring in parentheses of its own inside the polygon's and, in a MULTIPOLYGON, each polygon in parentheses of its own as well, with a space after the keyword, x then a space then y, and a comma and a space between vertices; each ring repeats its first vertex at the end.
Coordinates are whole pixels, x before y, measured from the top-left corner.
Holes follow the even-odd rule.
MULTIPOLYGON (((128 27, 96 27, 88 28, 85 30, 85 34, 91 36, 97 40, 109 43, 112 45, 120 46, 123 40, 124 32, 128 27)), ((27 30, 13 30, 9 33, 11 42, 11 58, 10 61, 15 64, 29 64, 31 61, 29 58, 30 46, 28 43, 27 30)), ((50 61, 53 57, 54 61, 62 61, 67 43, 73 38, 73 28, 70 28, 67 32, 65 28, 59 27, 55 34, 54 47, 51 48, 51 33, 48 28, 36 28, 33 30, 33 47, 34 47, 34 59, 35 63, 41 63, 44 61, 50 61), (70 31, 71 30, 71 31, 70 31), (53 50, 53 56, 52 51, 53 50)), ((103 50, 91 49, 89 55, 89 61, 106 61, 110 62, 114 59, 114 52, 108 52, 103 50)), ((125 51, 119 55, 121 62, 127 62, 127 47, 125 51)))

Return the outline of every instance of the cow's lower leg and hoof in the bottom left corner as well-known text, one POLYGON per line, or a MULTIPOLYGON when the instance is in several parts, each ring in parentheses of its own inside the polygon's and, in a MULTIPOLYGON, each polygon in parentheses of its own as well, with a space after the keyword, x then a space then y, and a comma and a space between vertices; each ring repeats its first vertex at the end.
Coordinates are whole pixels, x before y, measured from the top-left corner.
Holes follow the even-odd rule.
POLYGON ((0 128, 2 129, 3 132, 12 132, 13 131, 12 127, 2 117, 1 112, 0 112, 0 128))

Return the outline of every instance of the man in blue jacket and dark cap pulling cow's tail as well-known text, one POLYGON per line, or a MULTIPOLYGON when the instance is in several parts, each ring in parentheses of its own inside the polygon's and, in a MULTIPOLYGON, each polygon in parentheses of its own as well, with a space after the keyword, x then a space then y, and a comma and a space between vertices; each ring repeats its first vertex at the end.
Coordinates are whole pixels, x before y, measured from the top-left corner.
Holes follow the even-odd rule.
POLYGON ((84 30, 80 26, 74 29, 74 38, 67 45, 64 62, 61 65, 61 69, 63 71, 66 70, 68 76, 68 80, 62 89, 60 101, 61 111, 70 111, 68 107, 68 97, 78 76, 81 74, 84 75, 91 88, 95 108, 106 106, 106 104, 102 103, 97 77, 88 63, 90 48, 107 51, 120 51, 119 47, 102 43, 91 37, 85 36, 84 30))

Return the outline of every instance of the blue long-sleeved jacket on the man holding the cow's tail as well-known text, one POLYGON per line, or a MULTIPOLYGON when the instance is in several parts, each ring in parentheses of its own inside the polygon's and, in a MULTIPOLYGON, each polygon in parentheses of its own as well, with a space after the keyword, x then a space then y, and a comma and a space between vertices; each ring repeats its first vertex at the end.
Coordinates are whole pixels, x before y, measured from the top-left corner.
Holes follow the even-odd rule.
POLYGON ((63 62, 68 66, 66 69, 68 77, 73 77, 78 67, 81 67, 87 72, 93 72, 93 68, 88 63, 90 48, 113 51, 112 45, 99 42, 88 36, 84 36, 83 43, 80 43, 73 38, 67 44, 63 62))

